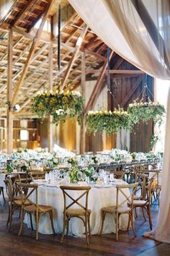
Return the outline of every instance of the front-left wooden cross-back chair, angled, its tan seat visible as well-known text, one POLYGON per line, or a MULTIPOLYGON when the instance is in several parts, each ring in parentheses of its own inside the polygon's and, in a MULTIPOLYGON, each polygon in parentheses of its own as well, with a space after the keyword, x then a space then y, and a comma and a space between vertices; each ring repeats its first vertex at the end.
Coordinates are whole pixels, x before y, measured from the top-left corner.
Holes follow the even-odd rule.
MULTIPOLYGON (((19 188, 19 193, 22 197, 22 219, 21 219, 21 226, 19 229, 19 234, 22 234, 23 230, 23 222, 24 222, 24 215, 25 213, 30 214, 30 220, 31 220, 31 226, 32 226, 32 213, 35 216, 35 223, 36 223, 36 240, 38 240, 38 228, 40 223, 40 217, 43 213, 49 213, 50 221, 51 221, 51 227, 53 229, 53 234, 55 234, 54 226, 53 226, 53 208, 49 205, 39 205, 38 204, 38 185, 37 184, 24 184, 24 183, 17 183, 17 186, 19 188), (24 194, 24 190, 27 189, 27 195, 24 194), (32 193, 35 192, 35 202, 32 202, 30 200, 30 196, 32 193), (29 205, 26 204, 26 202, 30 202, 29 205)), ((33 230, 33 226, 32 226, 33 230)))

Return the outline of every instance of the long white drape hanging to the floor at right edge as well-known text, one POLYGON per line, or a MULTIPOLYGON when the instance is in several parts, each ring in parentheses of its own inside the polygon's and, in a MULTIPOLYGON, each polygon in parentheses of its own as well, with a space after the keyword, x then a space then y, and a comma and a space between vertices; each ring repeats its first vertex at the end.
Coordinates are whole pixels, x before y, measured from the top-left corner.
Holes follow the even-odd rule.
POLYGON ((165 151, 163 173, 161 175, 161 202, 159 208, 158 222, 156 227, 155 239, 161 242, 170 243, 170 89, 166 112, 166 136, 165 136, 165 151))

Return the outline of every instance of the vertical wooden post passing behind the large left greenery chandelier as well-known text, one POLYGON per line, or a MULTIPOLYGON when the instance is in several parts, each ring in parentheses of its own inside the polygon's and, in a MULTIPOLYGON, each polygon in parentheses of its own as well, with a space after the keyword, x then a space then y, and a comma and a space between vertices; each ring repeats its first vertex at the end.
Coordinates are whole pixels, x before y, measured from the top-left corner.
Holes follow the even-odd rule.
MULTIPOLYGON (((53 90, 53 44, 49 46, 49 90, 53 90)), ((48 117, 48 150, 53 151, 53 117, 48 117)))

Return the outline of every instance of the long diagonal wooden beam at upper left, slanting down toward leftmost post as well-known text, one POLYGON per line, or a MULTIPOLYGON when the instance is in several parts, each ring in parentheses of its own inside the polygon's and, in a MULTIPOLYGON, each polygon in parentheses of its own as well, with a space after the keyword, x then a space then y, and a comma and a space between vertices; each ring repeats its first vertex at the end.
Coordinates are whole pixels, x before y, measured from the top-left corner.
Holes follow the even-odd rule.
POLYGON ((14 91, 14 95, 12 97, 12 104, 13 105, 17 101, 17 96, 18 96, 18 93, 19 93, 19 89, 22 87, 22 82, 24 81, 24 77, 27 74, 27 70, 29 68, 30 61, 32 59, 32 56, 35 54, 35 49, 37 48, 37 44, 39 43, 40 35, 42 33, 42 29, 44 27, 45 21, 47 20, 47 17, 48 17, 48 14, 50 12, 50 9, 51 9, 51 7, 53 5, 53 1, 54 0, 51 0, 49 2, 48 8, 46 9, 44 17, 42 18, 42 22, 40 24, 40 28, 39 28, 39 30, 37 30, 37 34, 35 35, 35 40, 32 42, 32 46, 30 48, 30 54, 29 54, 28 59, 27 59, 25 65, 24 65, 23 72, 21 74, 21 77, 19 77, 19 81, 17 82, 17 85, 16 85, 16 90, 14 91))

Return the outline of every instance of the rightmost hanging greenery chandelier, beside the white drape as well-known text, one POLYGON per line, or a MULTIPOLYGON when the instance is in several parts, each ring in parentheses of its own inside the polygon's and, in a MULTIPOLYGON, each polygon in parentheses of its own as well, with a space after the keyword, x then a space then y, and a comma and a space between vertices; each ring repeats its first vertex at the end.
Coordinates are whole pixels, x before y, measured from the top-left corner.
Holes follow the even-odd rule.
POLYGON ((158 124, 161 125, 165 108, 158 102, 143 102, 143 100, 140 102, 133 101, 133 103, 128 106, 128 114, 130 114, 134 124, 138 124, 140 120, 148 121, 149 119, 153 119, 155 123, 158 122, 158 124))

